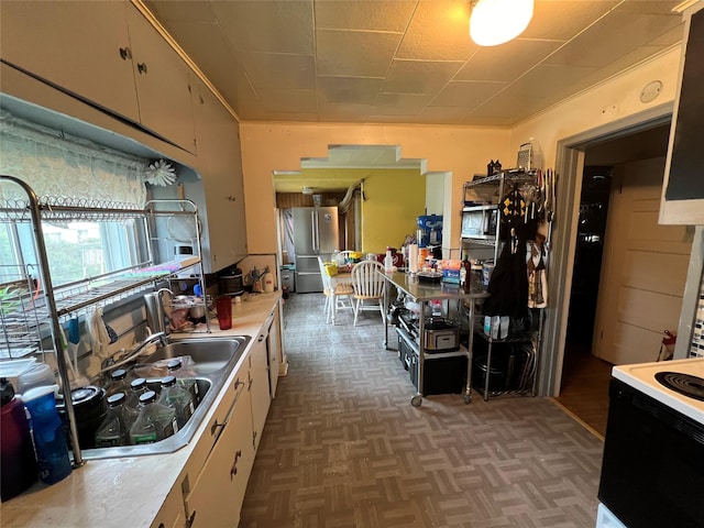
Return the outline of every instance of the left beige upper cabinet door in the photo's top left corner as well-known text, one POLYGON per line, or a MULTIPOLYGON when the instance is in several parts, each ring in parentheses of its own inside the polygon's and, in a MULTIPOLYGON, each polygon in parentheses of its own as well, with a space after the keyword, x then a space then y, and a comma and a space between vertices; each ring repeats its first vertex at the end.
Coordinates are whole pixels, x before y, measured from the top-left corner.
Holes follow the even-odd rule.
POLYGON ((2 59, 139 121, 125 2, 0 2, 2 59))

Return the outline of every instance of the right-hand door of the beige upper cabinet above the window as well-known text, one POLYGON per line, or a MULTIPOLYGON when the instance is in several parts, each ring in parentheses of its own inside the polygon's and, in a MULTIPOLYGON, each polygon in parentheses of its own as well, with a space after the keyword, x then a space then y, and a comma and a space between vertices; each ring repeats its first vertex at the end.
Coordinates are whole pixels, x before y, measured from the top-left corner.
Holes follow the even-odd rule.
POLYGON ((142 127, 195 154, 190 68, 134 7, 128 26, 142 127))

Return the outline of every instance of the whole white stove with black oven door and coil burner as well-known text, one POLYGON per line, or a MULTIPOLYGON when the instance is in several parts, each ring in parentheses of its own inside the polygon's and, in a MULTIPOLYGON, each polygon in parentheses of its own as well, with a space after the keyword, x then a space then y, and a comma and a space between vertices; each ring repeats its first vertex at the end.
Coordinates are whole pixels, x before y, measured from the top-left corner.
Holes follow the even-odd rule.
POLYGON ((704 527, 704 358, 612 376, 597 527, 704 527))

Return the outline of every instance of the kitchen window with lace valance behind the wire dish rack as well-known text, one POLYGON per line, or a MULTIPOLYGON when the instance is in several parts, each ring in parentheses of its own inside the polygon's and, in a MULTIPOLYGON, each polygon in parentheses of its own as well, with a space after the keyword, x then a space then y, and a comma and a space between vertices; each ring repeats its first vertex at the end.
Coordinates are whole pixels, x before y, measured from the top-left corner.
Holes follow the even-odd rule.
MULTIPOLYGON (((47 205, 142 209, 148 160, 72 136, 0 110, 0 174, 15 176, 47 205)), ((0 187, 0 201, 24 205, 16 185, 0 187)), ((135 220, 45 221, 43 232, 54 287, 139 266, 148 260, 143 226, 135 220)), ((0 283, 33 275, 32 227, 0 224, 0 283), (20 248, 22 250, 20 250, 20 248), (31 254, 22 254, 22 251, 31 254), (14 275, 14 276, 13 276, 14 275)))

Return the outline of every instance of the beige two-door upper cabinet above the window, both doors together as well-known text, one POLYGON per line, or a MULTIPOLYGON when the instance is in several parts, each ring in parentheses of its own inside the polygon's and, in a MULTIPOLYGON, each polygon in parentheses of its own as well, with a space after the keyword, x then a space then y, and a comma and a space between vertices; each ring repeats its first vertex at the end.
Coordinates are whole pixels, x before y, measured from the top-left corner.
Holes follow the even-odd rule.
POLYGON ((196 153, 189 67, 129 2, 0 2, 10 65, 196 153))

